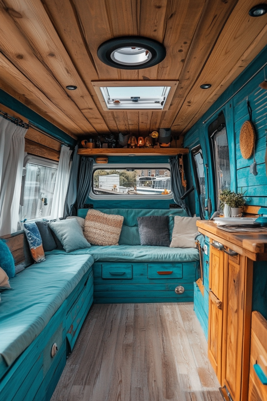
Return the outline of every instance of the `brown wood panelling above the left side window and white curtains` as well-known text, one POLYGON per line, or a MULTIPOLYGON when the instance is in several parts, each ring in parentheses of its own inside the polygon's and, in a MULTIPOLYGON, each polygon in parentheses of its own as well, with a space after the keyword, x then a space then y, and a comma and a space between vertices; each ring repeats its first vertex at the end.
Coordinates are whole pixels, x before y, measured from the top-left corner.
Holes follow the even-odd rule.
MULTIPOLYGON (((12 115, 12 117, 22 119, 24 122, 28 123, 28 119, 2 105, 1 103, 0 109, 9 115, 12 115)), ((25 152, 34 156, 40 156, 58 162, 60 149, 61 142, 58 140, 50 138, 50 136, 42 134, 42 132, 39 132, 32 127, 27 130, 25 135, 25 152)))

